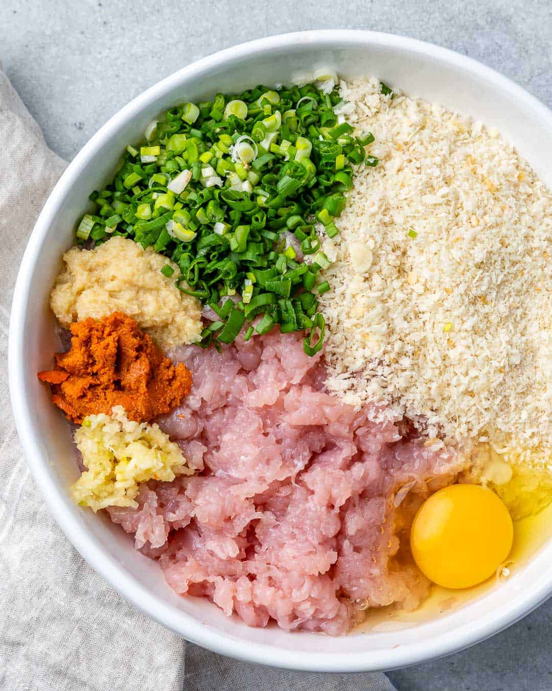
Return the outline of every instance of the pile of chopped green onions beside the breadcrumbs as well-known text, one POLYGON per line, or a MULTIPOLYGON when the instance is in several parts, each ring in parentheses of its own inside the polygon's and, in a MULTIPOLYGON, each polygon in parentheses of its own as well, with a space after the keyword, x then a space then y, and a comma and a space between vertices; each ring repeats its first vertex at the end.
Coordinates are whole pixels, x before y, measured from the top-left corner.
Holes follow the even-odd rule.
MULTIPOLYGON (((202 347, 231 343, 247 319, 246 339, 279 325, 283 333, 311 330, 305 352, 322 348, 317 296, 329 283, 318 276, 330 262, 315 220, 336 238, 353 167, 377 159, 364 150, 373 135, 355 136, 333 112, 337 75, 321 68, 317 79, 324 91, 257 87, 170 108, 146 127, 145 142, 128 146, 112 182, 90 196, 97 215, 83 216, 79 242, 117 233, 175 262, 179 290, 219 316, 201 332, 202 347), (312 263, 286 246, 288 232, 312 263)), ((172 266, 161 269, 167 278, 172 266)))

